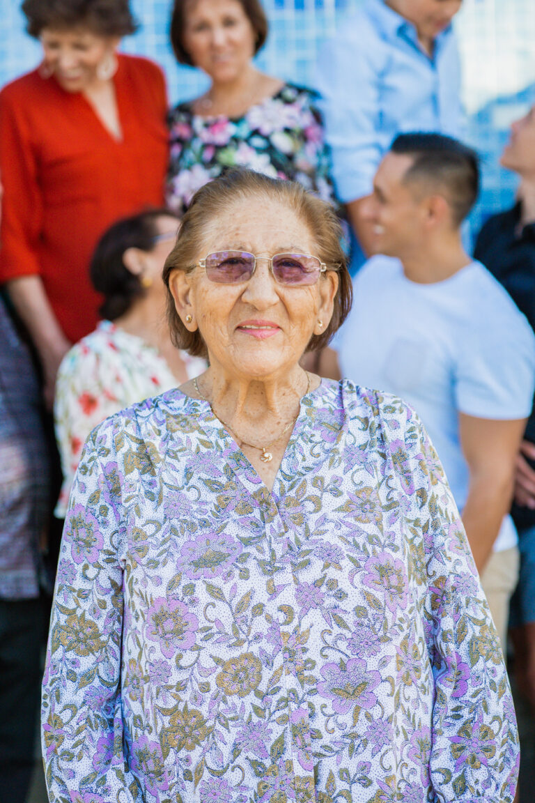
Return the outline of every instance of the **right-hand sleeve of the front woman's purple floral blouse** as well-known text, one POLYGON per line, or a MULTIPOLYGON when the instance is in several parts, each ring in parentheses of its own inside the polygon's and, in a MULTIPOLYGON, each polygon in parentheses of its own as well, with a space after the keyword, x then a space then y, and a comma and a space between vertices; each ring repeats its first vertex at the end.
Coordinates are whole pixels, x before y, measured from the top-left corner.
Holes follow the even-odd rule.
POLYGON ((435 686, 430 781, 440 803, 510 803, 519 765, 501 646, 444 471, 419 418, 405 408, 389 451, 411 499, 407 536, 424 560, 424 629, 435 686), (427 578, 427 579, 426 579, 427 578))

